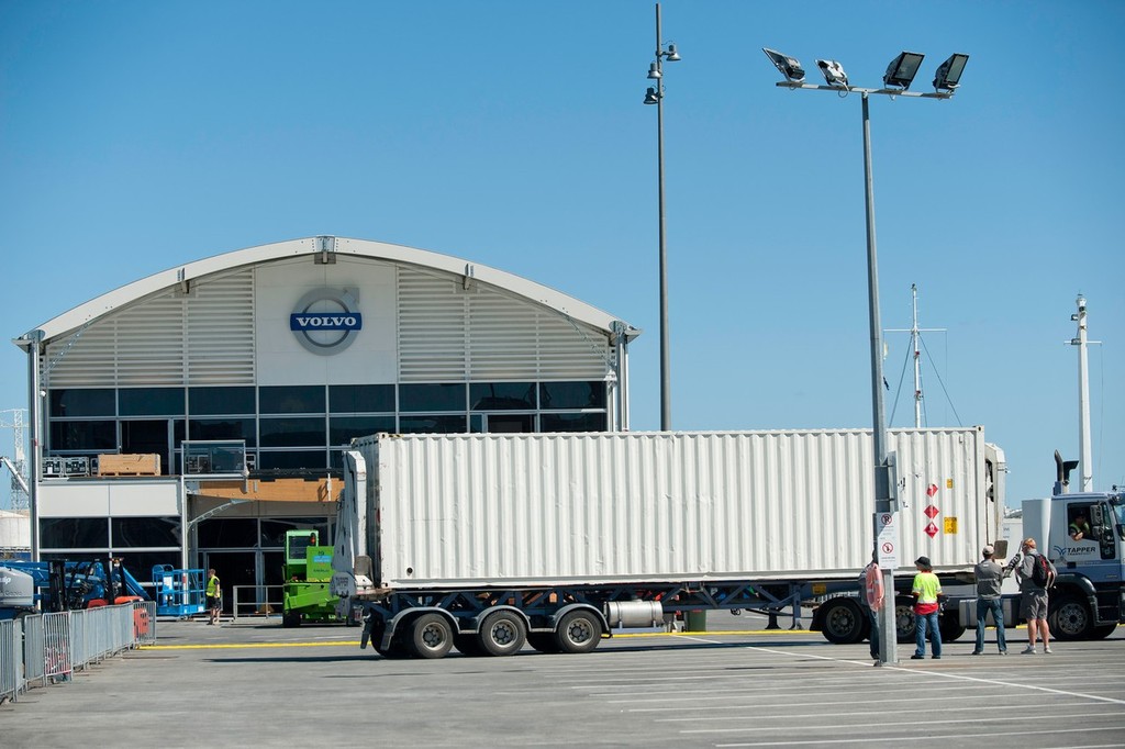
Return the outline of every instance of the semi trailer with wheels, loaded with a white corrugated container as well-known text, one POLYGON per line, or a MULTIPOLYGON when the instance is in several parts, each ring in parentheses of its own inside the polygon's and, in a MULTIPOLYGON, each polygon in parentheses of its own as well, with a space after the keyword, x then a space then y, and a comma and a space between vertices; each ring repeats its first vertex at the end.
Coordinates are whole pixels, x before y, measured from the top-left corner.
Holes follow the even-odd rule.
MULTIPOLYGON (((867 635, 870 430, 378 434, 344 453, 331 593, 388 657, 586 652, 614 628, 792 611, 867 635)), ((892 430, 900 637, 912 560, 953 585, 1001 540, 1004 453, 982 427, 892 430)), ((968 586, 966 586, 968 588, 968 586)), ((947 607, 943 631, 964 626, 947 607)))

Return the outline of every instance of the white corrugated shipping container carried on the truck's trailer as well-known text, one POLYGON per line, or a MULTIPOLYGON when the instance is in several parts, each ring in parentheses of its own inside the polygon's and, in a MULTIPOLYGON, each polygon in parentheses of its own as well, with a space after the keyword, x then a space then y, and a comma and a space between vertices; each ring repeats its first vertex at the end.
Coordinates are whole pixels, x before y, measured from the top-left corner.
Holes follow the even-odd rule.
MULTIPOLYGON (((840 578, 871 554, 870 431, 379 435, 358 446, 384 586, 840 578)), ((982 431, 894 431, 889 449, 902 566, 912 574, 926 554, 938 569, 971 567, 996 538, 982 431), (933 539, 928 505, 940 511, 933 539)))

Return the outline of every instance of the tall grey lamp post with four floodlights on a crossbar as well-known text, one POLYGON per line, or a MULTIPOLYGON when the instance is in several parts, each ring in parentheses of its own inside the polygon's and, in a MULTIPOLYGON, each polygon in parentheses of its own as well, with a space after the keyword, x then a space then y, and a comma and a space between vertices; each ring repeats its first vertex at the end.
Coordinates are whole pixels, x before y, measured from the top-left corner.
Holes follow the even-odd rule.
MULTIPOLYGON (((933 93, 918 93, 908 91, 914 82, 918 69, 921 66, 924 55, 916 52, 903 52, 899 54, 886 67, 883 75, 883 88, 862 89, 848 84, 847 73, 843 65, 835 60, 818 60, 817 66, 825 76, 826 85, 813 85, 804 82, 804 70, 795 57, 790 57, 774 49, 763 48, 770 61, 785 76, 784 81, 777 83, 786 89, 812 89, 818 91, 835 91, 837 94, 847 96, 858 93, 863 102, 863 181, 864 181, 864 204, 867 227, 867 300, 870 308, 871 328, 871 401, 872 419, 874 422, 874 488, 875 488, 875 514, 873 515, 872 530, 873 538, 878 539, 880 530, 880 514, 893 514, 896 511, 894 497, 891 493, 890 473, 886 461, 886 419, 883 410, 883 335, 879 319, 879 263, 875 255, 875 192, 871 170, 871 116, 867 106, 870 94, 878 93, 884 96, 898 96, 904 98, 921 99, 950 99, 954 90, 960 85, 961 74, 969 62, 969 55, 954 54, 937 69, 934 78, 933 93)), ((893 516, 893 515, 891 515, 893 516)), ((875 545, 873 543, 873 545, 875 545)), ((897 558, 898 550, 886 553, 885 550, 875 549, 875 552, 883 558, 897 558), (883 553, 880 553, 880 552, 883 553)), ((886 592, 884 604, 879 615, 880 650, 879 664, 897 662, 896 651, 898 650, 898 631, 896 622, 894 605, 894 570, 890 565, 882 566, 883 589, 886 592)))

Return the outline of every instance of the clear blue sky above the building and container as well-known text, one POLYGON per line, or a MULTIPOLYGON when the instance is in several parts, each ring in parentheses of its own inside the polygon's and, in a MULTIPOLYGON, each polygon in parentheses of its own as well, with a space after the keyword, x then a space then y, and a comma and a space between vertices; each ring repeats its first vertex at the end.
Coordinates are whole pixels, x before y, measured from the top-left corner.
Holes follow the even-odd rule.
MULTIPOLYGON (((654 16, 0 0, 7 337, 190 260, 377 240, 644 328, 632 425, 657 428, 654 16)), ((872 87, 921 52, 916 90, 963 52, 953 100, 871 102, 882 326, 910 326, 917 283, 921 326, 944 328, 925 337, 924 423, 983 424, 1016 505, 1050 491, 1054 450, 1078 458, 1064 341, 1083 294, 1095 487, 1125 484, 1125 3, 668 0, 663 20, 683 56, 664 106, 673 427, 871 425, 860 97, 777 89, 760 48, 872 87)), ((909 336, 886 343, 886 413, 911 425, 909 336)), ((26 407, 26 370, 0 349, 0 409, 26 407)))

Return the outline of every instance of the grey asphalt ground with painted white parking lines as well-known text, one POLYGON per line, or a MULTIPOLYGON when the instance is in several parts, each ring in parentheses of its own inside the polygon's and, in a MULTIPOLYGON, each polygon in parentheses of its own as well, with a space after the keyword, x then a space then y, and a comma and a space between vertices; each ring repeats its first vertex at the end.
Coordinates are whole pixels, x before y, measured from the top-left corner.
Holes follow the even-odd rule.
MULTIPOLYGON (((783 620, 784 623, 784 620, 783 620)), ((872 667, 866 643, 629 633, 588 655, 385 660, 357 629, 158 623, 155 646, 0 706, 17 747, 1125 747, 1125 626, 1098 642, 872 667)))

